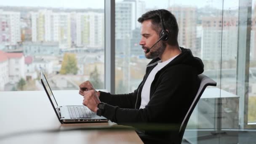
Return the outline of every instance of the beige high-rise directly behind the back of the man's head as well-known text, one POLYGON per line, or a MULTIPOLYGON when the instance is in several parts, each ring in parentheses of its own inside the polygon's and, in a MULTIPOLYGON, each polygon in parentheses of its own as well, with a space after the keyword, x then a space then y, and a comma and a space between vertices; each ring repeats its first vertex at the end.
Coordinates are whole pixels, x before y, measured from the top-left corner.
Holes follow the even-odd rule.
POLYGON ((196 47, 196 8, 173 6, 169 7, 168 11, 173 13, 173 15, 176 17, 179 26, 179 46, 190 48, 193 53, 197 53, 199 48, 196 47))

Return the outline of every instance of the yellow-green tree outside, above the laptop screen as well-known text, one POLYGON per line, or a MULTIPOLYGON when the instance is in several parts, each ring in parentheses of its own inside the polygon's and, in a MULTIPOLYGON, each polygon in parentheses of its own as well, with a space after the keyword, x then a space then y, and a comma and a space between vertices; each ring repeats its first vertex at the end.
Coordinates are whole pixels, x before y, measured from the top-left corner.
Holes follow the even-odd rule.
POLYGON ((65 53, 61 63, 60 74, 73 74, 76 75, 78 71, 77 59, 75 53, 65 53))

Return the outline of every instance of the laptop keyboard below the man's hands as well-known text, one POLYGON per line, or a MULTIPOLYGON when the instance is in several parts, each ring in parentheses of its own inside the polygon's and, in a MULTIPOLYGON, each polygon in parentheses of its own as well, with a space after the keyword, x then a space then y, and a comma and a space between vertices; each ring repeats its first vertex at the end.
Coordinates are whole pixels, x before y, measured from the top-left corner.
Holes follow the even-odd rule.
POLYGON ((84 106, 67 106, 70 118, 91 118, 91 112, 84 106))

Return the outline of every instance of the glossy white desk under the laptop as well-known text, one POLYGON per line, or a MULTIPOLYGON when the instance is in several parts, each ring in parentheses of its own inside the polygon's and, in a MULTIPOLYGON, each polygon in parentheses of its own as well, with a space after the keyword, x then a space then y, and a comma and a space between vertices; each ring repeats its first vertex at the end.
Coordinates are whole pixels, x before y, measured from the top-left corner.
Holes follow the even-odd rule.
MULTIPOLYGON (((82 105, 83 96, 77 90, 53 91, 53 95, 59 105, 82 105)), ((0 109, 0 144, 143 144, 133 130, 63 131, 70 128, 110 128, 115 123, 61 125, 45 91, 0 92, 0 109)))

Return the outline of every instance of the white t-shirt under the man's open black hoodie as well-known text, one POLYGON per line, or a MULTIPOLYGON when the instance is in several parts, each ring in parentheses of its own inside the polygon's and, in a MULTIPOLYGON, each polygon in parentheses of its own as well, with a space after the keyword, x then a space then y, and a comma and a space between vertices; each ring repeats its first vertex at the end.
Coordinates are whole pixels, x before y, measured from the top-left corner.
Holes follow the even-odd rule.
MULTIPOLYGON (((178 55, 176 55, 178 56, 178 55)), ((159 61, 157 63, 157 66, 152 69, 152 71, 149 73, 149 76, 147 77, 147 80, 145 81, 143 88, 141 90, 141 106, 139 107, 140 109, 144 109, 145 106, 149 103, 149 94, 150 94, 150 87, 151 83, 153 82, 155 75, 160 69, 165 67, 169 62, 171 62, 176 56, 173 56, 171 59, 168 59, 167 61, 159 61)))

